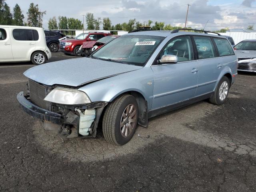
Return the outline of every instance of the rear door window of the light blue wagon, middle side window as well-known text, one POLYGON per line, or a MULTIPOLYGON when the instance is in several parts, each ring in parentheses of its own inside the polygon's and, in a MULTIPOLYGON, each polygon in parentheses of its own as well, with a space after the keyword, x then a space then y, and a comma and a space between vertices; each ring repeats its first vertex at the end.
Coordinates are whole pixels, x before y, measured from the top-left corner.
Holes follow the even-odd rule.
POLYGON ((208 59, 217 56, 216 50, 210 37, 194 36, 196 42, 196 49, 198 52, 198 59, 208 59))

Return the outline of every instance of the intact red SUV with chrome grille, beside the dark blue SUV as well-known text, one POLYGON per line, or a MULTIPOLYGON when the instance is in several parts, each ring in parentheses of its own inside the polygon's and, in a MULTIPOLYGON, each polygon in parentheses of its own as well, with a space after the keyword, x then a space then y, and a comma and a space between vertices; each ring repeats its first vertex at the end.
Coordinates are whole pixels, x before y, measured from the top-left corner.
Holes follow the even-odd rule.
POLYGON ((110 36, 110 33, 102 33, 102 32, 89 32, 89 33, 81 33, 76 36, 75 39, 67 39, 60 41, 60 51, 64 52, 64 54, 74 54, 75 56, 80 56, 79 48, 84 42, 96 42, 105 36, 110 36))

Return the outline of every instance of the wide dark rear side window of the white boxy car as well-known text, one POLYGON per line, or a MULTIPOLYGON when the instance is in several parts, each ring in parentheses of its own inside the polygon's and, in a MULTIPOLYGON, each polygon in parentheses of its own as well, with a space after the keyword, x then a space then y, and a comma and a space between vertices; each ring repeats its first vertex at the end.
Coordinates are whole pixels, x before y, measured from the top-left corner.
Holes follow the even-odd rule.
POLYGON ((37 41, 39 39, 39 34, 34 29, 14 29, 12 35, 18 41, 37 41))

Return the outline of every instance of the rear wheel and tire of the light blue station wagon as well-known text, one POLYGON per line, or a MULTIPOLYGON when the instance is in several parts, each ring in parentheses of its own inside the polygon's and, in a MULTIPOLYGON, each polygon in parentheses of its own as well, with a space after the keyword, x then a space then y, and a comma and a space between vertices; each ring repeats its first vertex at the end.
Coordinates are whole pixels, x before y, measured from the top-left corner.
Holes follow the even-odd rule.
POLYGON ((210 97, 209 101, 215 105, 222 105, 228 98, 228 92, 230 89, 230 80, 224 76, 218 83, 214 94, 210 97))

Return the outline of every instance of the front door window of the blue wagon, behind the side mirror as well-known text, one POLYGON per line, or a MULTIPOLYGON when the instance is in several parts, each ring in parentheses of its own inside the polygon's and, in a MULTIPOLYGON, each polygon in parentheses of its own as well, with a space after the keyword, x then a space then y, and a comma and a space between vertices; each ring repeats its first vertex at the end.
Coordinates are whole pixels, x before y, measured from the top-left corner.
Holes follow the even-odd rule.
POLYGON ((172 39, 160 53, 160 58, 163 55, 176 55, 178 57, 178 62, 194 60, 194 52, 190 37, 181 36, 172 39))

